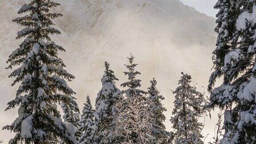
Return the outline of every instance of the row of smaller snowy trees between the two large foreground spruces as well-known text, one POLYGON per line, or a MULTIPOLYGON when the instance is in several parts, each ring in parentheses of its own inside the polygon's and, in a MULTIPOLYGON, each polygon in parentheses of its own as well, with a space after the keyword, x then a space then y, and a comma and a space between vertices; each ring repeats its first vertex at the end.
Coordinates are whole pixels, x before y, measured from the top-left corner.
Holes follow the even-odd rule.
POLYGON ((89 96, 84 104, 77 133, 80 144, 203 144, 198 122, 204 110, 204 95, 190 85, 191 76, 182 73, 180 86, 173 93, 176 95, 175 108, 171 122, 175 132, 167 132, 163 124, 166 111, 161 101, 164 97, 156 88, 156 80, 145 92, 140 88, 141 80, 136 79, 140 72, 135 71, 134 57, 128 58, 125 65, 128 82, 121 84, 126 88, 120 91, 116 86, 116 76, 105 62, 102 88, 96 98, 95 110, 89 96))

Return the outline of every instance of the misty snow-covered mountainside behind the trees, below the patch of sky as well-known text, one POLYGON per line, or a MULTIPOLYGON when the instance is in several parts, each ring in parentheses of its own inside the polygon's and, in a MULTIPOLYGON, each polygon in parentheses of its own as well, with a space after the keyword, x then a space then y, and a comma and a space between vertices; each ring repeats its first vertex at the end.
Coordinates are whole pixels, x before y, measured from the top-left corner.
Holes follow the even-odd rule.
MULTIPOLYGON (((14 23, 17 12, 29 0, 0 0, 0 93, 3 100, 0 114, 4 120, 0 127, 10 124, 16 111, 3 112, 6 103, 15 96, 11 88, 10 70, 5 70, 5 61, 21 40, 15 40, 22 28, 14 23)), ((64 16, 56 20, 56 28, 62 34, 52 36, 67 52, 60 53, 67 69, 76 76, 70 84, 77 92, 78 103, 86 96, 94 102, 100 90, 104 61, 108 61, 120 83, 124 65, 130 52, 142 73, 143 89, 149 80, 156 77, 158 87, 166 100, 166 125, 171 129, 169 118, 173 95, 180 72, 189 72, 199 83, 206 85, 212 65, 211 53, 216 35, 213 32, 215 19, 197 12, 179 0, 56 0, 62 4, 54 9, 64 16), (193 55, 193 56, 192 56, 193 55), (204 68, 202 66, 204 65, 204 68)), ((204 91, 203 88, 199 88, 204 91)), ((209 126, 209 129, 214 126, 209 126)), ((206 130, 208 131, 208 130, 206 130)), ((207 132, 206 132, 207 133, 207 132)), ((8 141, 11 136, 0 131, 0 139, 8 141)))

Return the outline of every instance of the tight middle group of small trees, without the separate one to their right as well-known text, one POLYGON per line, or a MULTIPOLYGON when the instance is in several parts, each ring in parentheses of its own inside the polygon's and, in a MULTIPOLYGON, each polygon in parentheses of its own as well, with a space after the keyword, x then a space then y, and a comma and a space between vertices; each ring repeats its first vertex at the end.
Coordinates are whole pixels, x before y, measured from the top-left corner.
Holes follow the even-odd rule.
POLYGON ((105 62, 105 72, 101 79, 102 88, 96 98, 95 110, 90 99, 84 104, 79 129, 83 129, 82 144, 119 144, 119 143, 168 143, 171 133, 165 130, 163 112, 166 109, 161 104, 164 100, 156 88, 156 80, 151 81, 148 92, 138 89, 140 81, 135 71, 137 64, 131 56, 126 65, 128 82, 121 84, 124 91, 116 87, 118 80, 114 72, 105 62))

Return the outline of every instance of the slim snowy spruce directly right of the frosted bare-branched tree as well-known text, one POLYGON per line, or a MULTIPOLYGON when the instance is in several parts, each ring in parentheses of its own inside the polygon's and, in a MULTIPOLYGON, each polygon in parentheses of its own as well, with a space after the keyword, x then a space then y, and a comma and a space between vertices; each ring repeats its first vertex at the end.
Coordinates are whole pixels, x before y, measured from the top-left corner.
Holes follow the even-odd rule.
POLYGON ((152 135, 155 140, 154 143, 160 144, 164 142, 168 142, 171 137, 170 132, 167 132, 165 126, 163 124, 166 119, 163 112, 167 111, 161 103, 164 100, 164 96, 160 95, 160 92, 156 88, 156 79, 150 81, 151 85, 148 88, 149 100, 151 100, 151 104, 149 105, 149 111, 151 111, 150 117, 152 121, 152 135))

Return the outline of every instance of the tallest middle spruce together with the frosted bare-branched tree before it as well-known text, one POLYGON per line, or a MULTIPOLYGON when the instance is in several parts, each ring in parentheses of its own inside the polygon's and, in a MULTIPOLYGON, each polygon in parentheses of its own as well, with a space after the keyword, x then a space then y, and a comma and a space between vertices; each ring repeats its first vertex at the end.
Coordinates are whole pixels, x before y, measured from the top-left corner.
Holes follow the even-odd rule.
POLYGON ((140 87, 140 81, 136 79, 136 75, 140 72, 135 71, 137 64, 133 64, 134 57, 131 55, 129 65, 125 65, 129 72, 128 82, 121 86, 128 87, 121 93, 125 94, 126 99, 120 100, 115 106, 118 108, 116 116, 112 122, 111 130, 108 134, 109 144, 148 144, 152 143, 151 136, 151 117, 148 111, 148 105, 151 100, 147 99, 140 87))

